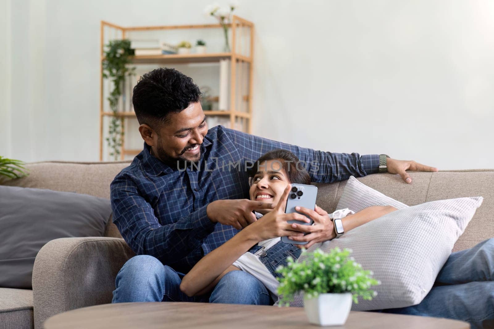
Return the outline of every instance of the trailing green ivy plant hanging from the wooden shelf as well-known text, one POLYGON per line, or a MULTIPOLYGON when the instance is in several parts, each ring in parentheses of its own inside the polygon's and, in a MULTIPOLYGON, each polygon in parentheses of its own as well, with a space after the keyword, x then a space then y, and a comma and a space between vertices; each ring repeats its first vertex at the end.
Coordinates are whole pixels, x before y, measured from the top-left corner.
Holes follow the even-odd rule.
POLYGON ((104 49, 103 78, 113 80, 113 90, 110 91, 107 100, 110 102, 110 109, 114 114, 110 120, 106 141, 110 148, 110 156, 118 160, 124 137, 123 120, 117 116, 119 99, 122 96, 125 76, 134 75, 135 67, 130 68, 128 66, 131 62, 131 56, 134 55, 134 50, 130 49, 130 40, 128 39, 110 40, 104 49))

